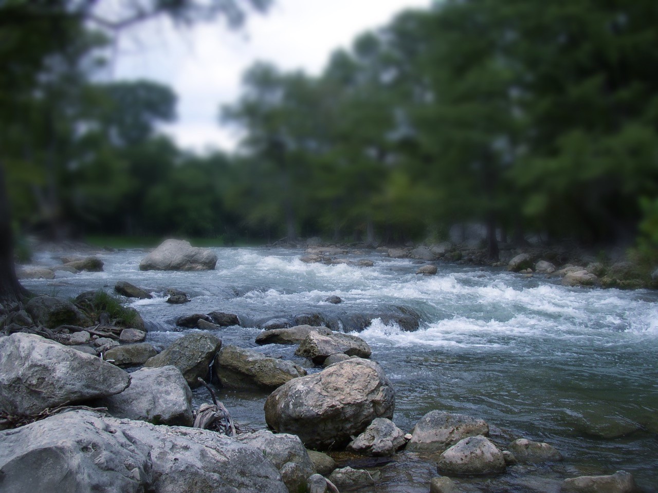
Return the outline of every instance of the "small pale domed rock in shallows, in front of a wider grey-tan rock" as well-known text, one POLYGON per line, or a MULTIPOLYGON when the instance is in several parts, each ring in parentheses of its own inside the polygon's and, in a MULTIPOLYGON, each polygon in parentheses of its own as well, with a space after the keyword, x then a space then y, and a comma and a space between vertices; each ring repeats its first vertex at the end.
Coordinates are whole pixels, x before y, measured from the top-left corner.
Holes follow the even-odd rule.
POLYGON ((457 475, 502 473, 505 458, 485 436, 469 436, 443 452, 437 467, 441 472, 457 475))

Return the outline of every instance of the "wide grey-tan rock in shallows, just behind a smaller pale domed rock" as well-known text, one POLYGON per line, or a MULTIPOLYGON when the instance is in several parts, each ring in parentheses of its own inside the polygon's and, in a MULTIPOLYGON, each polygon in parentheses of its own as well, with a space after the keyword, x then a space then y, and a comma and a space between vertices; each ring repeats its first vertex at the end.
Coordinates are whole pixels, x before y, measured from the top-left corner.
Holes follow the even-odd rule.
POLYGON ((468 436, 489 434, 489 425, 463 414, 430 411, 411 431, 409 452, 442 452, 468 436))

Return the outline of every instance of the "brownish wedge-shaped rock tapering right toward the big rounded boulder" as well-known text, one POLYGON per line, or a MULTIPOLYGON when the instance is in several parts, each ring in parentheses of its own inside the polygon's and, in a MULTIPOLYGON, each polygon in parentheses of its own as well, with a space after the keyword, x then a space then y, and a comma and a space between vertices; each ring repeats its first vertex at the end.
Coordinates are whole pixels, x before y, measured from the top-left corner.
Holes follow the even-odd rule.
POLYGON ((217 354, 215 375, 224 387, 274 389, 303 377, 306 370, 287 360, 266 358, 255 350, 229 345, 217 354))

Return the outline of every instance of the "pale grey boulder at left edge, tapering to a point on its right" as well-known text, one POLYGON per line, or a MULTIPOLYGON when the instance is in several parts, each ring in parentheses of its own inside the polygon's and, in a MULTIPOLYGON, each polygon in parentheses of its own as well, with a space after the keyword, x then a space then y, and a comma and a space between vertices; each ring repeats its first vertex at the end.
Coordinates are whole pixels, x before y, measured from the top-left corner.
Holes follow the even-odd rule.
POLYGON ((118 394, 126 371, 34 334, 0 339, 0 409, 36 415, 48 408, 118 394))

